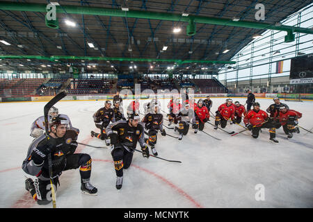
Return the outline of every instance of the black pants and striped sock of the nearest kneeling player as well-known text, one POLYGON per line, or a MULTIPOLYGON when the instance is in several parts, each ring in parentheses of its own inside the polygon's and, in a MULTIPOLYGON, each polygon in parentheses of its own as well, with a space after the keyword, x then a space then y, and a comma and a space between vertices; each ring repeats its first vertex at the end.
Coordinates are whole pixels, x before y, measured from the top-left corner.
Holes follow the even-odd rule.
MULTIPOLYGON (((66 166, 63 171, 78 169, 81 175, 81 182, 89 180, 91 174, 91 157, 87 153, 74 153, 66 156, 66 166)), ((60 173, 61 175, 61 173, 60 173)), ((54 191, 58 185, 58 177, 53 179, 54 191)), ((47 205, 52 200, 51 183, 49 178, 36 178, 34 181, 35 189, 31 189, 31 196, 37 200, 38 205, 47 205)))

